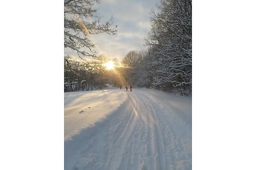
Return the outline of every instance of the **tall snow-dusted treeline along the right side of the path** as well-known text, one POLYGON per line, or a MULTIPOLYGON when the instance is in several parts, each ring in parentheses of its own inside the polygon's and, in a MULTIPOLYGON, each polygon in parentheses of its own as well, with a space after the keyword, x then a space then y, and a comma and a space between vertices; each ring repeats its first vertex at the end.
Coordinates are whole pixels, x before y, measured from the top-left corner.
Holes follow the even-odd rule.
POLYGON ((163 0, 152 12, 147 52, 129 52, 125 76, 134 85, 166 92, 192 93, 192 2, 163 0))

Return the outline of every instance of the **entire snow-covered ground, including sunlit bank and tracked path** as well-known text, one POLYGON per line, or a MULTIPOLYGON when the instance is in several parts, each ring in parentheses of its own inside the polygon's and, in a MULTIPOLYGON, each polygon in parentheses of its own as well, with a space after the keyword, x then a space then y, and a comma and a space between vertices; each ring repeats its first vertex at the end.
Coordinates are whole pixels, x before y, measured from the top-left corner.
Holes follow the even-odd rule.
POLYGON ((65 169, 192 169, 191 112, 157 90, 65 93, 65 169))

